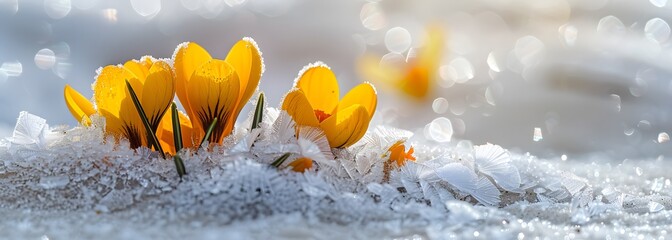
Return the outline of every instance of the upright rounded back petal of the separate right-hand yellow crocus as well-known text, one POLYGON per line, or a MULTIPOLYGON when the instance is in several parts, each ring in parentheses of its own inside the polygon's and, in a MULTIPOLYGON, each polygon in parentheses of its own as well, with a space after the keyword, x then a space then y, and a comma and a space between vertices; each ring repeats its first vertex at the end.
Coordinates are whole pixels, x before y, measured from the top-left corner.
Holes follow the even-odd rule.
POLYGON ((338 105, 338 81, 331 69, 321 62, 304 68, 295 83, 313 106, 313 109, 330 113, 338 105))

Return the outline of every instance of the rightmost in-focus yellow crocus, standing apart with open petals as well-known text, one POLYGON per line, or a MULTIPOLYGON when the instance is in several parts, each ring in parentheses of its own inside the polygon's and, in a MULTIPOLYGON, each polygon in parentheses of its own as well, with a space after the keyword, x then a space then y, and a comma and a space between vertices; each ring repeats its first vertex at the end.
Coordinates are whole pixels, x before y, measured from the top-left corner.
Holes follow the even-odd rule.
POLYGON ((338 81, 321 62, 299 73, 282 109, 301 126, 319 127, 332 148, 348 147, 364 136, 376 110, 376 90, 362 83, 339 102, 338 81))

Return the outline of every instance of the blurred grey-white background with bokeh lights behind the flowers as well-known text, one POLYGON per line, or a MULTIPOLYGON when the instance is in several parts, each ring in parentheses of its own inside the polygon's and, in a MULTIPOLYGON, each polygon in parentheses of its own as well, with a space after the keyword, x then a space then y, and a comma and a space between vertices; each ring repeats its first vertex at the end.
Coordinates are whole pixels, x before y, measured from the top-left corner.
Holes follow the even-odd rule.
POLYGON ((664 157, 670 13, 667 0, 0 0, 0 137, 20 111, 74 126, 63 87, 90 97, 101 66, 170 58, 185 41, 224 58, 249 36, 263 52, 270 106, 321 60, 341 95, 366 80, 378 86, 374 125, 428 141, 562 160, 664 157), (425 98, 357 71, 363 54, 410 59, 428 25, 444 30, 445 46, 425 98))

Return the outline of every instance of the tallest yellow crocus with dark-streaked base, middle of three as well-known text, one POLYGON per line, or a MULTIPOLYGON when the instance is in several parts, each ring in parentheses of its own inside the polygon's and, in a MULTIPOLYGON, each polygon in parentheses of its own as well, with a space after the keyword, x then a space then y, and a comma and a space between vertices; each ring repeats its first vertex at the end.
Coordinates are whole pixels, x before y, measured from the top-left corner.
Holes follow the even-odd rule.
POLYGON ((208 141, 221 143, 259 85, 263 59, 257 44, 251 38, 243 38, 231 48, 225 60, 219 60, 196 43, 184 43, 175 50, 173 61, 177 97, 194 128, 193 135, 183 139, 200 142, 217 118, 208 141))

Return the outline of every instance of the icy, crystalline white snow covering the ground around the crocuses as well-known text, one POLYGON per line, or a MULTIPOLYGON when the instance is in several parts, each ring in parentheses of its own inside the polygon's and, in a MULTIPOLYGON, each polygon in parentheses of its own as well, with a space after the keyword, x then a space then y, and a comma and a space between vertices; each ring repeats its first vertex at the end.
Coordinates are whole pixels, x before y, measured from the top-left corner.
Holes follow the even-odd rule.
POLYGON ((539 159, 377 126, 357 145, 335 150, 335 160, 296 173, 287 164, 305 152, 319 157, 323 136, 286 137, 294 126, 286 113, 267 112, 260 129, 243 124, 211 152, 183 152, 188 175, 181 181, 172 161, 105 137, 99 118, 91 127, 54 129, 21 113, 24 124, 13 135, 30 133, 33 141, 0 141, 0 235, 651 239, 672 231, 664 157, 539 159), (397 140, 414 146, 417 161, 389 170, 386 182, 381 156, 397 140), (283 152, 292 157, 269 166, 283 152))

